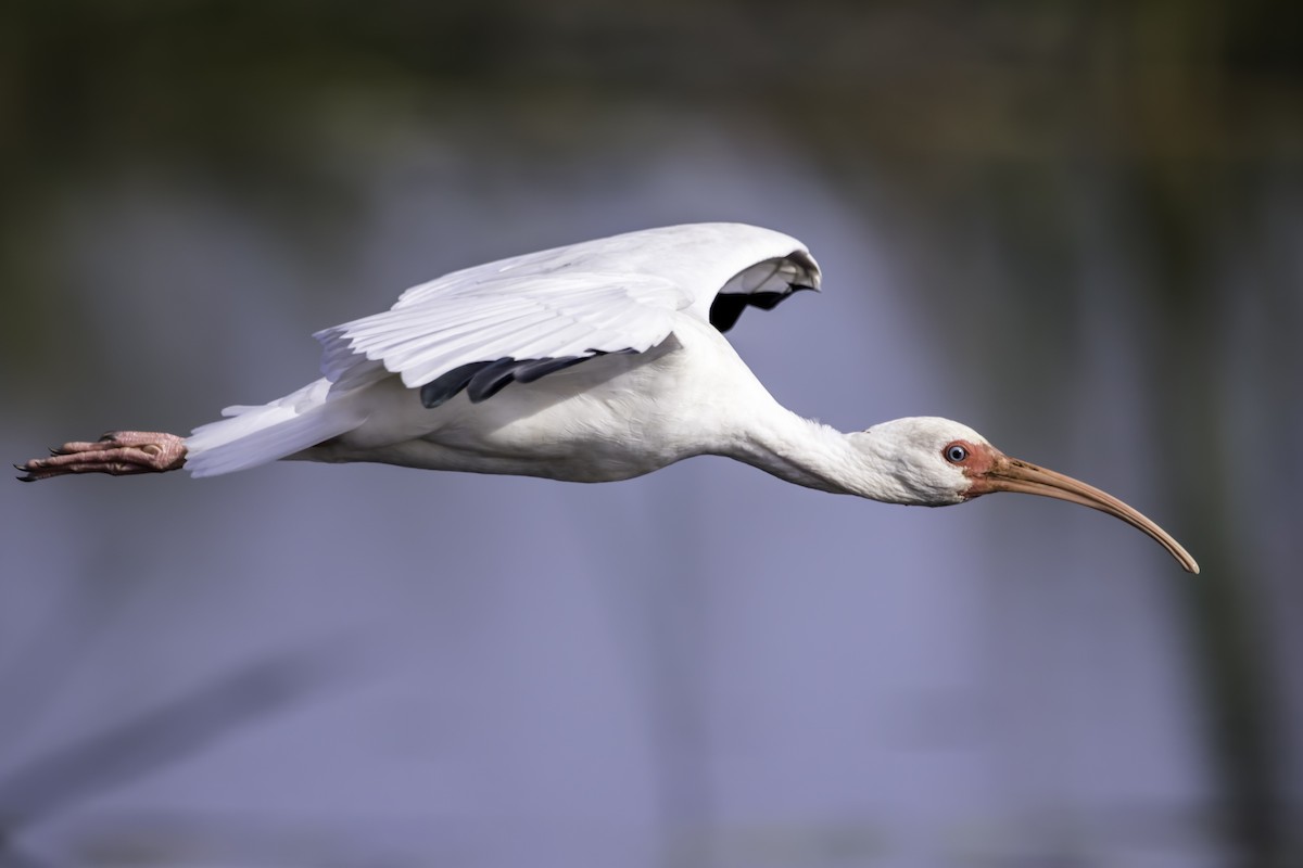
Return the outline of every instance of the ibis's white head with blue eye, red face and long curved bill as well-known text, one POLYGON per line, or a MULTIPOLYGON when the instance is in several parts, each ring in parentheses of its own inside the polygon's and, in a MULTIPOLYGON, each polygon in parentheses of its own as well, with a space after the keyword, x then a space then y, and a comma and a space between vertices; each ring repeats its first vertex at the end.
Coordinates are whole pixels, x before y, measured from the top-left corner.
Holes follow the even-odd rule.
POLYGON ((913 416, 873 426, 861 435, 878 468, 878 500, 923 506, 963 504, 993 492, 1066 500, 1108 513, 1157 540, 1190 573, 1199 563, 1166 531, 1117 497, 1063 474, 1010 458, 980 433, 950 419, 913 416))

